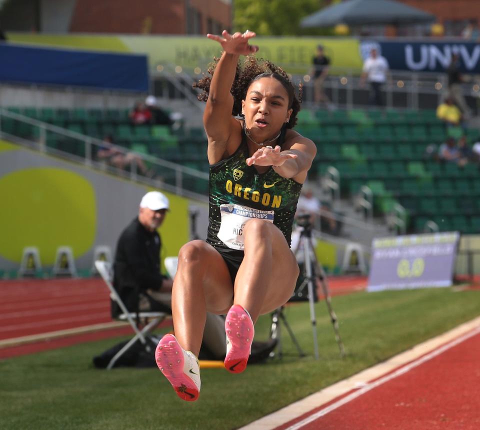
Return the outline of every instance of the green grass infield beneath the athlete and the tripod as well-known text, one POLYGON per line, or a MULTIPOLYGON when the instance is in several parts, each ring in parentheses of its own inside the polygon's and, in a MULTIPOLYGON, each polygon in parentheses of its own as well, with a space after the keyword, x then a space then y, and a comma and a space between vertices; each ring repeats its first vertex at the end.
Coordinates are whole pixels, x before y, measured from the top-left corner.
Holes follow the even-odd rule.
MULTIPOLYGON (((285 308, 300 358, 283 329, 283 357, 232 375, 201 372, 194 403, 180 400, 156 368, 95 369, 92 357, 119 339, 0 361, 2 430, 231 429, 442 333, 480 314, 478 291, 432 288, 334 297, 346 356, 340 358, 324 302, 316 304, 320 359, 313 358, 307 303, 285 308)), ((268 315, 257 322, 265 339, 268 315)), ((283 327, 282 327, 283 328, 283 327)))

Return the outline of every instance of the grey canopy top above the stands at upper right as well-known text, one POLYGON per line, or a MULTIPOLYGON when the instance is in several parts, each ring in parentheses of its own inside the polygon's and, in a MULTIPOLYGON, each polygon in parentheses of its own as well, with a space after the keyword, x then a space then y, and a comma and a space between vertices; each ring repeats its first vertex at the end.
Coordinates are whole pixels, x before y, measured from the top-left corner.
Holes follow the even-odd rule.
POLYGON ((347 0, 324 7, 304 17, 300 26, 331 27, 372 24, 420 24, 433 22, 435 16, 394 0, 347 0))

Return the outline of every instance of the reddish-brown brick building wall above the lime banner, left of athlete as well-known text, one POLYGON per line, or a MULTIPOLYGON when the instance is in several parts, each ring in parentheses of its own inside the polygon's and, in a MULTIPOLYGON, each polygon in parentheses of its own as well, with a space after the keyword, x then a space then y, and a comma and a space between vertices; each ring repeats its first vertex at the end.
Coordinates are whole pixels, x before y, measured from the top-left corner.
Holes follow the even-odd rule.
POLYGON ((77 0, 70 31, 203 34, 230 26, 231 5, 224 0, 77 0))

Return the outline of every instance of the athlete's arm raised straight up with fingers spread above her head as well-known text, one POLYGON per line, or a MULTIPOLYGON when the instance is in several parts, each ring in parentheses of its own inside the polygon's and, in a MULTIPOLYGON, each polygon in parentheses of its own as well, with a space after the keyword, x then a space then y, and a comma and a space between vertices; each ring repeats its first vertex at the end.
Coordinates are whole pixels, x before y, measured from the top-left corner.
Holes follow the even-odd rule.
POLYGON ((231 116, 233 96, 231 85, 235 78, 236 64, 240 55, 256 52, 258 48, 248 44, 255 33, 246 30, 230 35, 223 30, 221 36, 207 34, 207 37, 219 42, 223 48, 218 64, 215 67, 210 82, 208 99, 203 112, 203 125, 208 136, 208 152, 212 158, 217 158, 225 149, 235 120, 231 116), (210 153, 210 151, 212 153, 210 153), (221 153, 220 153, 221 152, 221 153))

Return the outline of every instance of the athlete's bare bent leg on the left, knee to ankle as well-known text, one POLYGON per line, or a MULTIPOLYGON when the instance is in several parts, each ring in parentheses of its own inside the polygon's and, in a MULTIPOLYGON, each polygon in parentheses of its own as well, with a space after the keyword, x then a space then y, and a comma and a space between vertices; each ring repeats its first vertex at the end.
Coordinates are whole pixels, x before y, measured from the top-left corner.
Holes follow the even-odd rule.
POLYGON ((232 299, 230 273, 220 254, 203 240, 184 244, 171 292, 173 328, 181 347, 198 356, 206 311, 226 313, 232 299))

